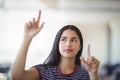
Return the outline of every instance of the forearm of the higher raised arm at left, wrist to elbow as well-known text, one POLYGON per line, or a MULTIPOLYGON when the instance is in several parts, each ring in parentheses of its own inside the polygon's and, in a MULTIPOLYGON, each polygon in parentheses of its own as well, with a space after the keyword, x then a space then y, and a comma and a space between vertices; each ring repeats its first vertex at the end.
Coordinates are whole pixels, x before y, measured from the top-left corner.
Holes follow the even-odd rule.
POLYGON ((13 68, 12 68, 12 77, 13 78, 21 78, 24 75, 26 57, 29 45, 32 39, 24 38, 20 50, 16 56, 13 68))

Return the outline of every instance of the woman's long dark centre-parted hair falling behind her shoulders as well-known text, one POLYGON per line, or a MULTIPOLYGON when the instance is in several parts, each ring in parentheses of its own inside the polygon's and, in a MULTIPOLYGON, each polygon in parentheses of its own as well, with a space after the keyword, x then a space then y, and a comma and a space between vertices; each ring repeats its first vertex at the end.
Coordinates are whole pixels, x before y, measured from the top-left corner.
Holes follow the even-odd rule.
POLYGON ((60 37, 61 37, 63 31, 68 30, 68 29, 75 31, 77 33, 77 35, 79 36, 81 49, 78 51, 78 53, 76 55, 75 65, 81 66, 81 61, 80 61, 79 57, 81 56, 82 50, 83 50, 83 37, 82 37, 81 31, 74 25, 65 25, 58 31, 58 33, 55 37, 54 43, 53 43, 52 50, 51 50, 49 56, 47 57, 47 59, 45 60, 45 62, 43 63, 43 65, 56 66, 60 63, 61 55, 59 52, 59 41, 60 41, 60 37))

